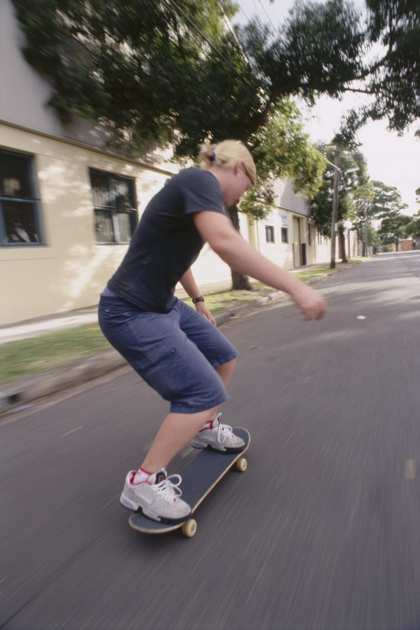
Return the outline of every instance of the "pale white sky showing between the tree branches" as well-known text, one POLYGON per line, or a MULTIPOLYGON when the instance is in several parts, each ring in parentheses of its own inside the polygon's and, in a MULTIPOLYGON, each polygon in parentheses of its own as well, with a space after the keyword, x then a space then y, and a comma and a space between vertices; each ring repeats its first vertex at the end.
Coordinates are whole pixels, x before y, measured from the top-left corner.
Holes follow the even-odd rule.
MULTIPOLYGON (((234 23, 246 23, 258 15, 272 28, 285 20, 294 0, 274 0, 273 3, 269 0, 236 0, 236 3, 240 10, 232 20, 234 23)), ((354 0, 354 3, 356 8, 363 9, 363 0, 354 0)), ((305 130, 314 142, 331 142, 339 130, 341 117, 350 108, 363 103, 363 98, 348 94, 338 101, 322 96, 311 110, 298 104, 307 117, 305 130)), ((365 156, 370 178, 399 190, 402 201, 408 205, 405 214, 416 214, 420 210, 420 204, 416 203, 416 189, 420 186, 420 139, 414 136, 418 127, 414 125, 399 137, 396 132, 387 131, 386 121, 371 121, 358 134, 359 149, 365 156)))

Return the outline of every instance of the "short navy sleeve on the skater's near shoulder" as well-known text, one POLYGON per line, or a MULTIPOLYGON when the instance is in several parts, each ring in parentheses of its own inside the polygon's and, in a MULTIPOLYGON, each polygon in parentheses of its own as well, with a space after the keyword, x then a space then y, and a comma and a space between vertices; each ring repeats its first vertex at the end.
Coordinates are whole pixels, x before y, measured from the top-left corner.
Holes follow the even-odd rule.
POLYGON ((184 181, 184 214, 210 210, 227 214, 219 181, 208 171, 194 169, 184 181))

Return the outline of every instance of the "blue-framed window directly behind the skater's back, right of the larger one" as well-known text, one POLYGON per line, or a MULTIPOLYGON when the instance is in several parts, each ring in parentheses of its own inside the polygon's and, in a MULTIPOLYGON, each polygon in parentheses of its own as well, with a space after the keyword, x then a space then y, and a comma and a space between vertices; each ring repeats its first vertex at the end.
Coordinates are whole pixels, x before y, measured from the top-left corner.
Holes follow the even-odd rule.
POLYGON ((137 226, 134 180, 90 171, 96 243, 130 243, 137 226))

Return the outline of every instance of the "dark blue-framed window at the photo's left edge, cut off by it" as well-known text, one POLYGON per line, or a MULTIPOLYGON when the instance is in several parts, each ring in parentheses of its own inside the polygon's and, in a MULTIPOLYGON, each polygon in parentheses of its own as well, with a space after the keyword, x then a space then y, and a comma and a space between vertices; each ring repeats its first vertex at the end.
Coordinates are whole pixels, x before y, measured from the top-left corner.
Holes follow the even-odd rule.
POLYGON ((0 244, 41 242, 32 158, 0 151, 0 244))

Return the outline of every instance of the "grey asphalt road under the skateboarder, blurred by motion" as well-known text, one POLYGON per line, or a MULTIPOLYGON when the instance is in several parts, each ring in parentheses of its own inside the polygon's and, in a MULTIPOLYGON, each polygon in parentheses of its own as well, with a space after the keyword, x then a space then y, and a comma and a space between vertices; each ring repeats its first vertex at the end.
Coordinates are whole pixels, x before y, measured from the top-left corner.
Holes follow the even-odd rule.
POLYGON ((0 419, 1 628, 420 630, 420 253, 316 288, 321 322, 281 301, 222 327, 248 469, 193 539, 118 502, 166 413, 127 367, 0 419))

